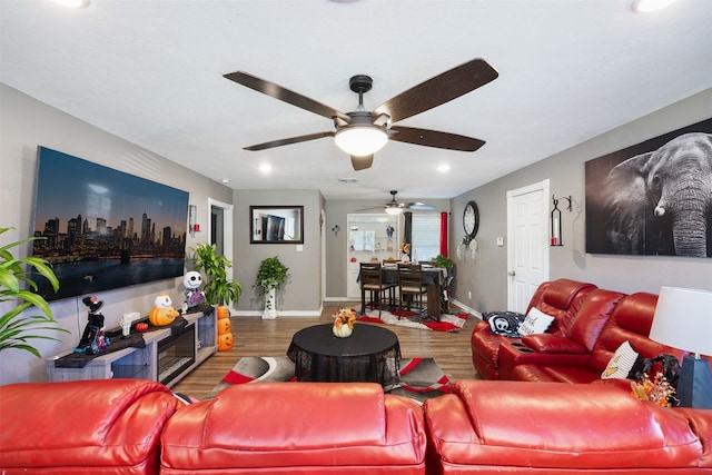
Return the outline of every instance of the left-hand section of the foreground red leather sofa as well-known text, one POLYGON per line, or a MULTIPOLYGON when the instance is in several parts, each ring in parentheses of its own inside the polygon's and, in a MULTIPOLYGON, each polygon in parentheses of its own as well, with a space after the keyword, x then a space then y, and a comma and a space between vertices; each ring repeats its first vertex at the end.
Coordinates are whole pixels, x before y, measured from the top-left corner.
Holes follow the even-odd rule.
POLYGON ((0 473, 158 473, 160 434, 182 406, 139 379, 0 386, 0 473))

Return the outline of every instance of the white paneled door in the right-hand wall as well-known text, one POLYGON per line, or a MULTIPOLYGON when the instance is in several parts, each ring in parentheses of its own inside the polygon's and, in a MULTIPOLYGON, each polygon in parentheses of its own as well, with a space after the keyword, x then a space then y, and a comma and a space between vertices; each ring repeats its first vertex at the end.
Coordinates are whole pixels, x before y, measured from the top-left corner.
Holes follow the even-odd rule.
POLYGON ((548 180, 507 191, 507 308, 525 313, 548 280, 548 180))

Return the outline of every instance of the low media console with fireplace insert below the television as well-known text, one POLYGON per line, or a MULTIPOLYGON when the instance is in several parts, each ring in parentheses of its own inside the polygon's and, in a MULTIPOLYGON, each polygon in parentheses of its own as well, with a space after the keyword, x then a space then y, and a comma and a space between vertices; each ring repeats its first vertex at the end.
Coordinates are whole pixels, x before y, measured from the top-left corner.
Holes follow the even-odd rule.
MULTIPOLYGON (((189 366, 180 368, 178 362, 181 358, 174 358, 166 355, 169 349, 165 348, 165 343, 171 338, 170 328, 159 328, 144 334, 144 348, 123 348, 117 352, 97 356, 87 363, 83 368, 57 368, 55 360, 71 350, 55 355, 44 360, 47 368, 47 380, 65 382, 79 379, 110 379, 110 378, 139 378, 161 382, 166 386, 172 386, 182 379, 188 373, 199 364, 217 353, 217 325, 216 313, 205 314, 197 311, 182 315, 188 321, 188 326, 194 326, 195 337, 188 342, 191 345, 191 356, 195 359, 189 362, 189 366), (164 344, 164 345, 161 345, 164 344), (177 365, 177 366, 171 366, 177 365)), ((182 343, 181 346, 186 347, 182 343)))

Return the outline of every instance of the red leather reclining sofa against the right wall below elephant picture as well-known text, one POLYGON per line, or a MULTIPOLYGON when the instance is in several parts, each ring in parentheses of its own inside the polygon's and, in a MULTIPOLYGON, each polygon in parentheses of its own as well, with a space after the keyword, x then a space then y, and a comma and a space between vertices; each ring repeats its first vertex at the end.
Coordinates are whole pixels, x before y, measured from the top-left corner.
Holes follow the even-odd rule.
MULTIPOLYGON (((550 329, 508 338, 481 321, 471 336, 473 365, 487 379, 593 383, 626 340, 643 358, 666 353, 682 363, 685 352, 647 337, 656 303, 654 294, 625 295, 570 279, 544 283, 527 311, 536 307, 553 316, 550 329)), ((606 383, 630 388, 627 380, 606 383)))

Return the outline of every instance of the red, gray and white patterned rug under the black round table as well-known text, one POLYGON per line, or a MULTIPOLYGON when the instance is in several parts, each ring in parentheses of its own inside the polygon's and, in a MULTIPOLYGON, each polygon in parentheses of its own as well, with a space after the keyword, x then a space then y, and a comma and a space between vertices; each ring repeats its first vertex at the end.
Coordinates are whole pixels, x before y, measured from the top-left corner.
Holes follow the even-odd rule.
MULTIPOLYGON (((389 394, 397 394, 419 403, 449 393, 451 383, 433 358, 402 358, 400 384, 389 394)), ((206 399, 234 384, 295 382, 294 363, 286 356, 246 356, 228 372, 206 399)))

